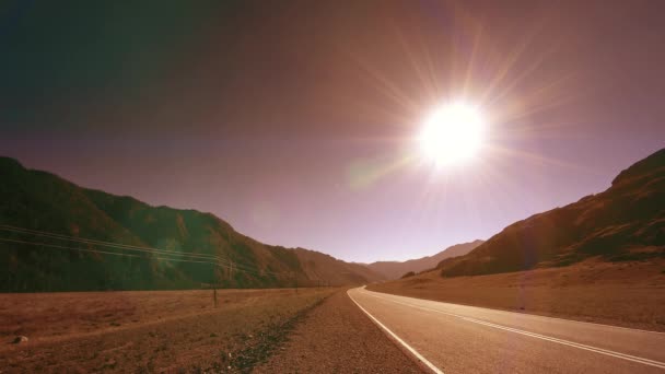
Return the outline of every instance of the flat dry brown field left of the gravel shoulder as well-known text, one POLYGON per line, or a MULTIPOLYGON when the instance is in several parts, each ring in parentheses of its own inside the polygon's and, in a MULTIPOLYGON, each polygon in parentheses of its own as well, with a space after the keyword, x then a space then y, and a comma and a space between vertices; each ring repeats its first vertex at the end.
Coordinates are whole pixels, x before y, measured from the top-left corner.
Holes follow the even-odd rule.
POLYGON ((218 307, 212 291, 0 294, 0 367, 243 372, 334 291, 224 290, 218 307))

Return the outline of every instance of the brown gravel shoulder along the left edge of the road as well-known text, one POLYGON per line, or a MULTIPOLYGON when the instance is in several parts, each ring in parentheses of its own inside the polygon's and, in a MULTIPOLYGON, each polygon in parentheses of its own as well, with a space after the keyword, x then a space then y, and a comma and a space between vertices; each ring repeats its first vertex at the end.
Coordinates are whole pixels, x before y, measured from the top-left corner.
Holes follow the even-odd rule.
POLYGON ((312 311, 255 373, 421 373, 349 299, 337 292, 312 311))

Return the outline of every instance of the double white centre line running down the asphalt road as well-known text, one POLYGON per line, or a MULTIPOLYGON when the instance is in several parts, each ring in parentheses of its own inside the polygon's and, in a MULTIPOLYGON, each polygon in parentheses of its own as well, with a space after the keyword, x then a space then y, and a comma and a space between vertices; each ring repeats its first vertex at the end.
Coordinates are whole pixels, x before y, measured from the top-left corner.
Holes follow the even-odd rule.
POLYGON ((389 297, 383 297, 383 296, 374 295, 372 293, 368 293, 368 295, 370 295, 372 297, 385 300, 387 302, 392 302, 392 303, 396 303, 396 304, 401 304, 401 305, 410 306, 410 307, 413 307, 413 308, 417 308, 417 309, 421 309, 421 311, 428 311, 428 312, 435 312, 435 313, 440 313, 440 314, 445 314, 445 315, 457 317, 459 319, 463 319, 463 320, 466 320, 466 322, 470 322, 470 323, 474 323, 474 324, 485 325, 485 326, 489 326, 489 327, 493 327, 493 328, 499 328, 499 329, 503 329, 503 330, 511 331, 511 332, 522 334, 522 335, 525 335, 525 336, 528 336, 528 337, 532 337, 532 338, 548 340, 548 341, 560 343, 560 344, 564 344, 564 346, 570 346, 570 347, 574 347, 574 348, 579 348, 579 349, 584 349, 584 350, 587 350, 587 351, 592 351, 592 352, 596 352, 596 353, 600 353, 600 354, 606 354, 606 355, 610 355, 610 357, 618 358, 618 359, 623 359, 623 360, 628 360, 628 361, 638 362, 638 363, 641 363, 641 364, 644 364, 644 365, 651 365, 651 366, 655 366, 655 367, 660 367, 660 369, 665 369, 665 362, 660 362, 660 361, 655 361, 655 360, 639 358, 639 357, 635 357, 635 355, 630 355, 630 354, 626 354, 626 353, 621 353, 621 352, 610 351, 610 350, 606 350, 606 349, 603 349, 603 348, 586 346, 586 344, 578 343, 578 342, 570 341, 570 340, 563 340, 563 339, 553 338, 553 337, 548 337, 546 335, 540 335, 540 334, 536 334, 536 332, 529 332, 529 331, 521 330, 521 329, 517 329, 517 328, 512 328, 512 327, 508 327, 508 326, 503 326, 503 325, 492 324, 492 323, 488 323, 488 322, 480 320, 480 319, 469 318, 469 317, 465 317, 465 316, 462 316, 462 315, 458 315, 458 314, 443 312, 443 311, 434 309, 434 308, 427 307, 427 306, 420 306, 420 305, 404 303, 404 302, 399 302, 399 301, 396 301, 396 300, 392 300, 389 297))

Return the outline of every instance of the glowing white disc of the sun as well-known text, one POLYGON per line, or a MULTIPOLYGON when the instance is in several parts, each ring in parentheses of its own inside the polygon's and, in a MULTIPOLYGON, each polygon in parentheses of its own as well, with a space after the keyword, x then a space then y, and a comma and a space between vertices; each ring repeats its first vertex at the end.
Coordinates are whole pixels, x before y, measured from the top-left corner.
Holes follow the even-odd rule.
POLYGON ((419 141, 423 154, 436 165, 459 164, 482 144, 483 120, 478 108, 455 103, 427 118, 419 141))

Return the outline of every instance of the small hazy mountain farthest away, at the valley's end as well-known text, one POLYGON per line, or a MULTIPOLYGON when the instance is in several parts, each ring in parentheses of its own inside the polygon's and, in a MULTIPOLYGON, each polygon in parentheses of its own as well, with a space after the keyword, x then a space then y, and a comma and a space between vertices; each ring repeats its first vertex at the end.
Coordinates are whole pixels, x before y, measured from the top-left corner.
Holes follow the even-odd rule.
POLYGON ((482 243, 482 241, 478 239, 470 243, 463 243, 447 247, 433 256, 427 256, 401 262, 377 261, 368 264, 365 266, 371 270, 383 274, 386 279, 399 279, 409 271, 420 272, 423 270, 433 269, 436 267, 436 265, 439 265, 440 261, 446 258, 466 255, 482 243))

